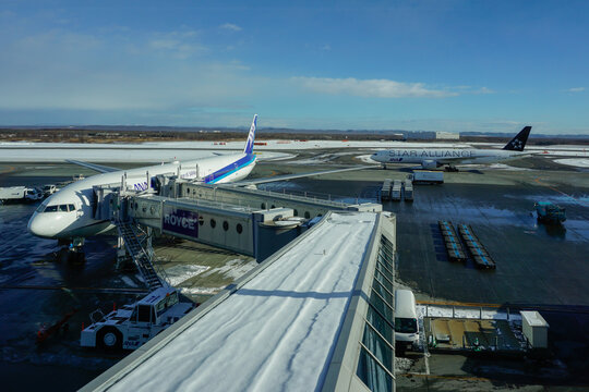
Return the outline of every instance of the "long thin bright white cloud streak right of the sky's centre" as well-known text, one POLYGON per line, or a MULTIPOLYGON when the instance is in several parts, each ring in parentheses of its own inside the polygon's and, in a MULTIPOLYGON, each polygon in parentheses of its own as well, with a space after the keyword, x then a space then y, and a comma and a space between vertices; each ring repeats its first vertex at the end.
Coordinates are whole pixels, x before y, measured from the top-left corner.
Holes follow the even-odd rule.
POLYGON ((443 98, 458 93, 432 89, 423 83, 404 83, 389 79, 357 79, 329 77, 293 77, 303 88, 329 95, 347 95, 371 98, 443 98))

